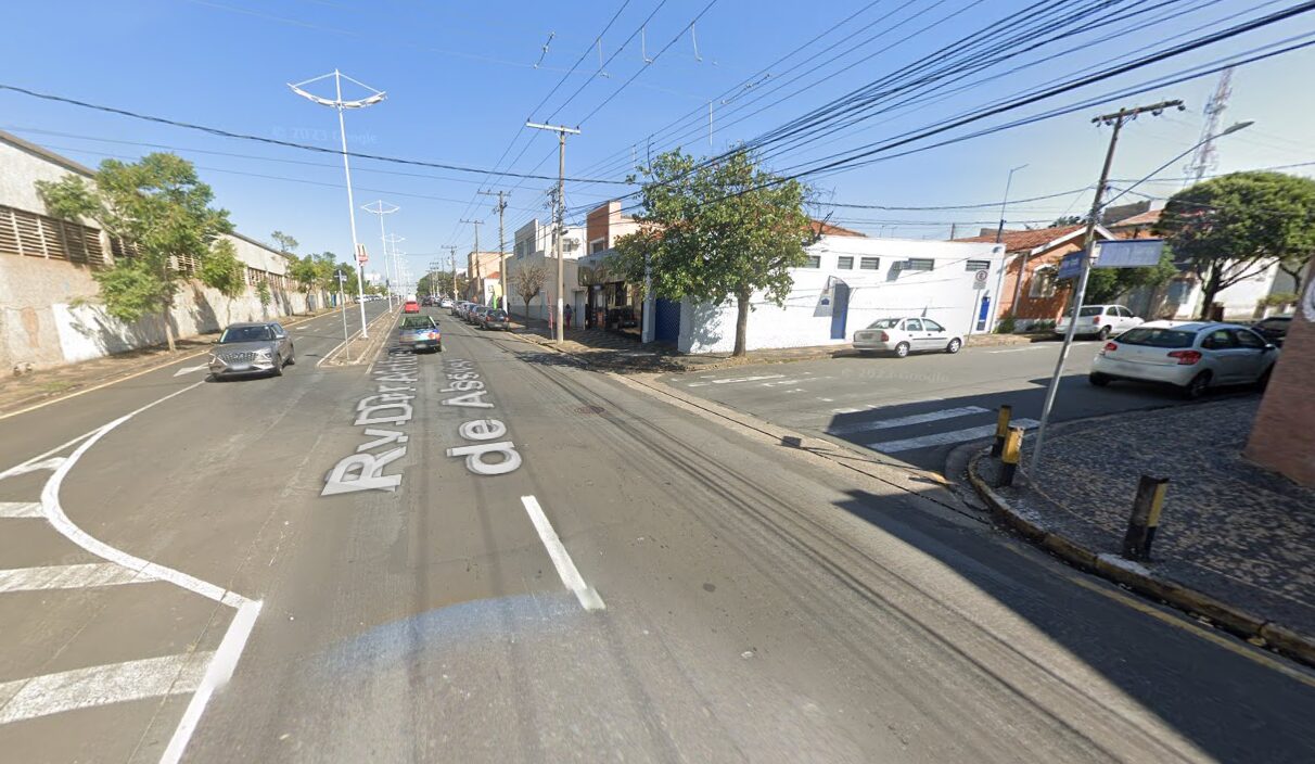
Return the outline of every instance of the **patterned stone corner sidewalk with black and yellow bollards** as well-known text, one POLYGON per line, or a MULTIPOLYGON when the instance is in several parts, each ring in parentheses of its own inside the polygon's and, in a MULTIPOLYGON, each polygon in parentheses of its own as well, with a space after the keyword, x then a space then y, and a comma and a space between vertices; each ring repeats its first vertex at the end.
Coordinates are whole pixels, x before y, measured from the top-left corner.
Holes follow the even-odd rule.
MULTIPOLYGON (((1315 490, 1241 458, 1260 401, 1172 406, 1077 422, 1048 442, 1039 475, 974 485, 1024 535, 1081 567, 1315 660, 1315 490), (1145 565, 1118 556, 1140 475, 1169 479, 1145 565), (984 485, 985 484, 985 485, 984 485), (989 496, 988 496, 989 494, 989 496), (1303 652, 1308 650, 1310 652, 1303 652)), ((1027 464, 1027 454, 1023 464, 1027 464)))

